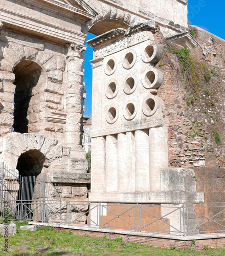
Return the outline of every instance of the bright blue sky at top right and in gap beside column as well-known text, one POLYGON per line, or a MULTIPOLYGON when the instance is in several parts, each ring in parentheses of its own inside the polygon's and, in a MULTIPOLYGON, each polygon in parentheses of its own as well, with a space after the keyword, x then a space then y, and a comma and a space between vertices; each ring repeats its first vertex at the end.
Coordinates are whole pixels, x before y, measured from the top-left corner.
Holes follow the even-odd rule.
MULTIPOLYGON (((188 1, 188 20, 191 25, 204 27, 209 32, 225 39, 225 29, 223 26, 225 11, 225 0, 189 0, 188 1)), ((95 35, 87 35, 87 40, 94 38, 95 35)), ((85 43, 85 45, 87 45, 85 43)), ((92 116, 92 68, 89 60, 92 59, 93 51, 87 47, 85 52, 85 90, 87 97, 85 99, 85 115, 92 116)))

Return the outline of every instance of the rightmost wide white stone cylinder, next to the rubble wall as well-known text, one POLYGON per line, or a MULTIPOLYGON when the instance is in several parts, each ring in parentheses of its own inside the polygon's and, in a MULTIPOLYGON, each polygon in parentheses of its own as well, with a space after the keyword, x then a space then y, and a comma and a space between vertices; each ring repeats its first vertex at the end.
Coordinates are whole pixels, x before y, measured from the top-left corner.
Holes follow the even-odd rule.
POLYGON ((150 191, 161 191, 161 169, 168 168, 167 126, 149 130, 150 191))

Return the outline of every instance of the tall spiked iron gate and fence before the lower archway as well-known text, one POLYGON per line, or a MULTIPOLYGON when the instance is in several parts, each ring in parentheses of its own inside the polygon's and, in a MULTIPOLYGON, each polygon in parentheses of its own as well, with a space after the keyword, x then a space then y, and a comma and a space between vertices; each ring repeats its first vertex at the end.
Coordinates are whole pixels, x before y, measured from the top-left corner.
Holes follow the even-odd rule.
POLYGON ((62 205, 56 183, 45 175, 19 176, 18 170, 0 163, 1 216, 49 222, 61 219, 62 205))

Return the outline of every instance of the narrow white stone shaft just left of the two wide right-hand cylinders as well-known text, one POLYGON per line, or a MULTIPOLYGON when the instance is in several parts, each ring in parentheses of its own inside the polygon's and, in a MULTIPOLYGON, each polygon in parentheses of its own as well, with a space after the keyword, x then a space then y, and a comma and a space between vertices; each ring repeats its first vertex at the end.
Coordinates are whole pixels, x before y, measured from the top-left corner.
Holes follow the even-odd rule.
POLYGON ((127 132, 127 192, 135 191, 135 151, 134 151, 134 134, 127 132))

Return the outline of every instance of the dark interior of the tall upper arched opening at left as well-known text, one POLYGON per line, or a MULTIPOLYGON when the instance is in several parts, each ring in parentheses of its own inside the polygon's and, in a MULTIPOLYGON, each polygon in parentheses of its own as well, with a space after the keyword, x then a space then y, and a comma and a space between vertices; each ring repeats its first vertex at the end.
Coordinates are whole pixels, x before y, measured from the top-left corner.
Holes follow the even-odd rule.
POLYGON ((31 60, 19 62, 13 73, 15 74, 15 96, 14 96, 14 123, 13 129, 17 133, 28 133, 28 108, 33 88, 37 85, 41 75, 41 67, 31 60))

